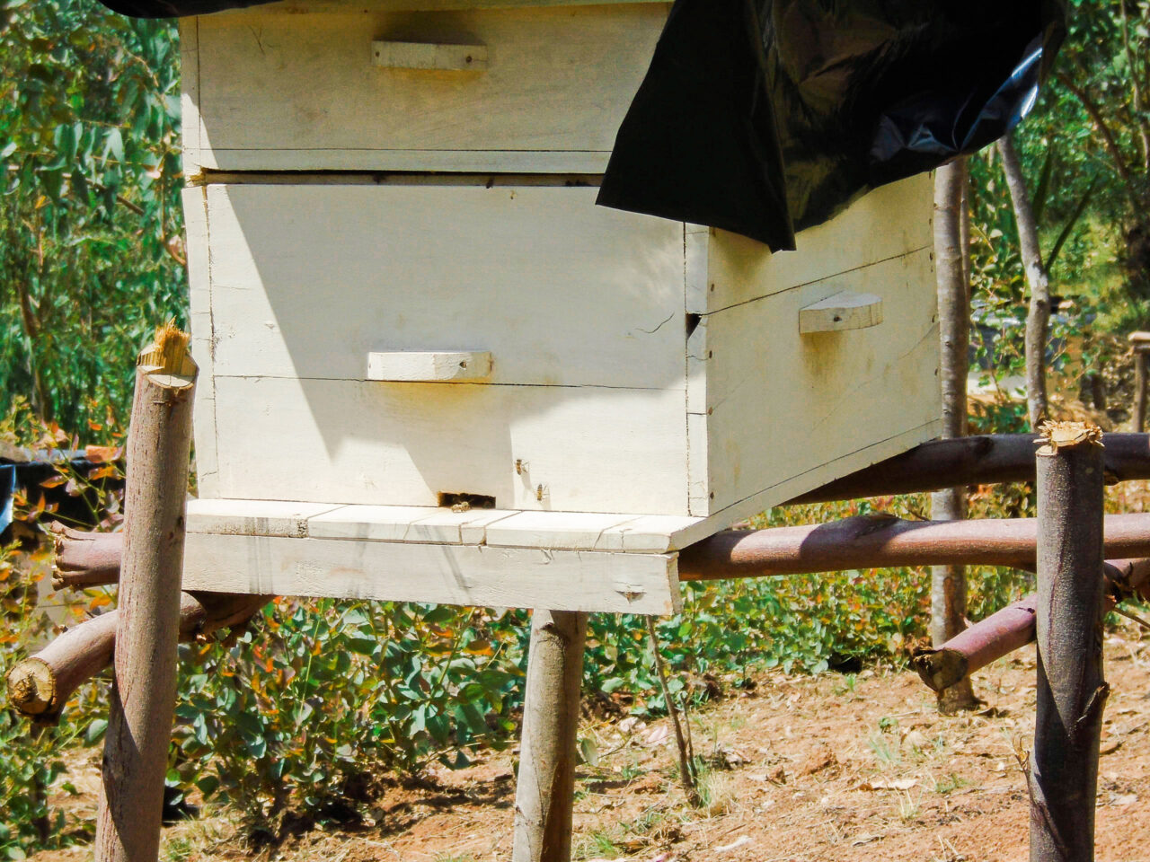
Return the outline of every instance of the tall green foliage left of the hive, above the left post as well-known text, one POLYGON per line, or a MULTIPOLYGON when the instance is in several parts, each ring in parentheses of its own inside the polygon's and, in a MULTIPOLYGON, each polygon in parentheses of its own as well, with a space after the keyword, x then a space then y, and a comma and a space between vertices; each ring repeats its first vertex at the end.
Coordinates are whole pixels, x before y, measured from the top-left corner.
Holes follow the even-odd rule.
POLYGON ((136 351, 184 317, 178 57, 170 22, 0 5, 0 414, 124 424, 136 351))

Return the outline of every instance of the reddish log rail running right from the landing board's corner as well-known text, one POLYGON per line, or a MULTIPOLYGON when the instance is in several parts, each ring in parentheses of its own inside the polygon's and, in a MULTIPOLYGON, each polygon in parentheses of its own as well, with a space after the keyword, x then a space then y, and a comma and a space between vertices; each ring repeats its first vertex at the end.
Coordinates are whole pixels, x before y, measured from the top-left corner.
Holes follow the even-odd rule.
MULTIPOLYGON (((904 521, 859 515, 830 524, 730 530, 684 548, 680 580, 810 575, 904 565, 1035 564, 1034 518, 904 521)), ((1107 515, 1105 553, 1150 556, 1150 513, 1107 515)))

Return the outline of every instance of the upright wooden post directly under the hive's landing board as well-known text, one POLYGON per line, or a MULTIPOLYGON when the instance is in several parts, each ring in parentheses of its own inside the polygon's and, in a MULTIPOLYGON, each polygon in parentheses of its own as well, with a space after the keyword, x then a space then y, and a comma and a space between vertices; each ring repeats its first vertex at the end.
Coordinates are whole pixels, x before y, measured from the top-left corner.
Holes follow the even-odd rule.
POLYGON ((568 862, 586 614, 536 610, 527 657, 513 862, 568 862))

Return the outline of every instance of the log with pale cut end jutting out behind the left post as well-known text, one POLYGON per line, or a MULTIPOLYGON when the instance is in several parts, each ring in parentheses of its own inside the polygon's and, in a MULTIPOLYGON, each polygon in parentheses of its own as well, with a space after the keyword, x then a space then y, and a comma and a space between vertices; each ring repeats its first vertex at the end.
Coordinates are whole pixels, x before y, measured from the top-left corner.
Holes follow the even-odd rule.
MULTIPOLYGON (((183 593, 179 639, 240 625, 269 601, 270 595, 183 593)), ((85 619, 17 663, 8 671, 8 702, 39 722, 59 719, 76 688, 112 663, 118 622, 118 610, 85 619)))

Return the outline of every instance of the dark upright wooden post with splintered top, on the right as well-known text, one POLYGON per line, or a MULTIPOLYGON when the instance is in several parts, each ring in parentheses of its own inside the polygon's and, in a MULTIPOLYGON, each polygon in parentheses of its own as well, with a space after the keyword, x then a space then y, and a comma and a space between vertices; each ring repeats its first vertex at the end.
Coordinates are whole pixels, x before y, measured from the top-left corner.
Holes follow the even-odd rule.
POLYGON ((1092 862, 1102 711, 1101 431, 1045 423, 1037 453, 1038 644, 1030 862, 1092 862))

